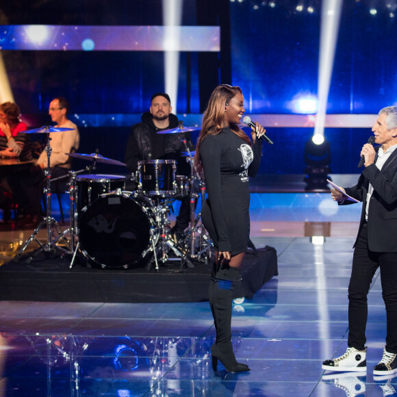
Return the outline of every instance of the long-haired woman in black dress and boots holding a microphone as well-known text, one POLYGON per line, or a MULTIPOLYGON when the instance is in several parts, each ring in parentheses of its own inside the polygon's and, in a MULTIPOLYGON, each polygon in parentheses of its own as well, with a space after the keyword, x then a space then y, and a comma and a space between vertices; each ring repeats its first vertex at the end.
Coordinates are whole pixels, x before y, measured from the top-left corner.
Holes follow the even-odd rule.
POLYGON ((229 372, 249 371, 248 366, 235 360, 231 308, 250 231, 248 177, 257 173, 262 148, 259 138, 266 132, 255 123, 251 143, 238 127, 244 112, 240 87, 216 87, 204 114, 195 159, 196 169, 204 172, 208 192, 201 219, 216 255, 209 283, 209 305, 216 328, 212 366, 216 370, 219 359, 229 372))

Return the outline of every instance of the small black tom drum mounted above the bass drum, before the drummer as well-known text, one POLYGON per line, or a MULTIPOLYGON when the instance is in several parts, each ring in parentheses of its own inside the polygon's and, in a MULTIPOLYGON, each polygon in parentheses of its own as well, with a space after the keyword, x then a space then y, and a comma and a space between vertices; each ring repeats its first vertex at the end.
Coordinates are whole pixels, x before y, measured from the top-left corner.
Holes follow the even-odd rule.
POLYGON ((138 192, 147 196, 173 196, 176 193, 176 160, 138 162, 138 192))

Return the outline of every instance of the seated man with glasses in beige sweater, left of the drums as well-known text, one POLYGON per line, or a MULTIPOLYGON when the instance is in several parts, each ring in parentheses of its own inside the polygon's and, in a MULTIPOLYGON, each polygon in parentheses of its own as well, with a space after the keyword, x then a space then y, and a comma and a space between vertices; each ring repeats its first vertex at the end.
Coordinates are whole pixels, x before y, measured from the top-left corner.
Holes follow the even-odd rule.
MULTIPOLYGON (((68 110, 69 103, 63 97, 56 97, 49 104, 49 115, 55 123, 55 127, 71 128, 68 131, 49 133, 49 138, 51 138, 51 179, 62 177, 68 173, 68 170, 71 169, 71 157, 65 153, 73 153, 79 148, 79 129, 75 123, 68 120, 68 110)), ((25 227, 35 226, 38 222, 40 196, 45 178, 44 170, 47 169, 47 166, 47 152, 44 150, 40 153, 36 166, 32 167, 27 178, 21 181, 27 201, 25 214, 22 218, 25 227)), ((64 182, 66 182, 66 178, 64 182)))

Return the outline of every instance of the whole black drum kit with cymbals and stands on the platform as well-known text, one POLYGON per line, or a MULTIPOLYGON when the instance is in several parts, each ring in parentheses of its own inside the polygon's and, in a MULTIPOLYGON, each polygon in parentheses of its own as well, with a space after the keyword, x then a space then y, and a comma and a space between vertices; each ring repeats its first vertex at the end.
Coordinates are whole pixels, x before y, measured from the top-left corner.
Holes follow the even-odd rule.
MULTIPOLYGON (((181 133, 196 127, 179 126, 177 129, 159 133, 181 133)), ((27 133, 49 133, 66 131, 54 127, 42 127, 25 131, 27 133)), ((47 140, 45 151, 48 164, 51 156, 51 138, 47 140)), ((36 227, 30 238, 14 257, 18 261, 27 246, 36 241, 40 249, 27 258, 29 263, 34 256, 44 251, 55 256, 57 250, 72 255, 70 268, 73 268, 77 253, 81 253, 90 264, 101 268, 134 268, 145 266, 159 270, 159 262, 180 260, 185 266, 194 267, 192 261, 207 263, 211 257, 212 243, 207 231, 200 222, 200 214, 195 215, 195 203, 201 196, 205 199, 205 184, 194 172, 194 152, 189 151, 186 141, 183 153, 190 164, 191 176, 176 175, 176 160, 146 160, 138 162, 138 171, 131 175, 131 181, 138 185, 134 191, 125 190, 127 178, 121 175, 101 175, 91 173, 97 163, 110 165, 126 164, 103 157, 99 153, 66 153, 71 157, 93 162, 79 171, 69 171, 68 195, 70 199, 70 225, 65 231, 51 217, 51 169, 45 170, 47 184, 44 194, 47 197, 46 216, 36 227), (80 175, 81 174, 81 175, 80 175), (198 193, 198 191, 200 193, 198 193), (177 240, 171 235, 170 213, 172 204, 178 199, 190 199, 190 226, 177 240), (38 231, 47 226, 47 244, 36 237, 38 231)))

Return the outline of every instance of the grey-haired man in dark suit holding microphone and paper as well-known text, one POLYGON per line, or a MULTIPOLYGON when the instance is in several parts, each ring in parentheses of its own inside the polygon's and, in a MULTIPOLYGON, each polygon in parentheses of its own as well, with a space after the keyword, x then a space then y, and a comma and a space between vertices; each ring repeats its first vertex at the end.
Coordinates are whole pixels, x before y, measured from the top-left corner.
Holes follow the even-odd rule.
MULTIPOLYGON (((332 371, 366 371, 367 295, 378 268, 387 315, 386 346, 374 375, 397 372, 397 106, 383 108, 372 127, 375 144, 364 144, 364 170, 357 185, 344 192, 363 202, 348 287, 348 348, 344 355, 322 363, 332 371)), ((347 196, 331 190, 338 204, 347 196)))

